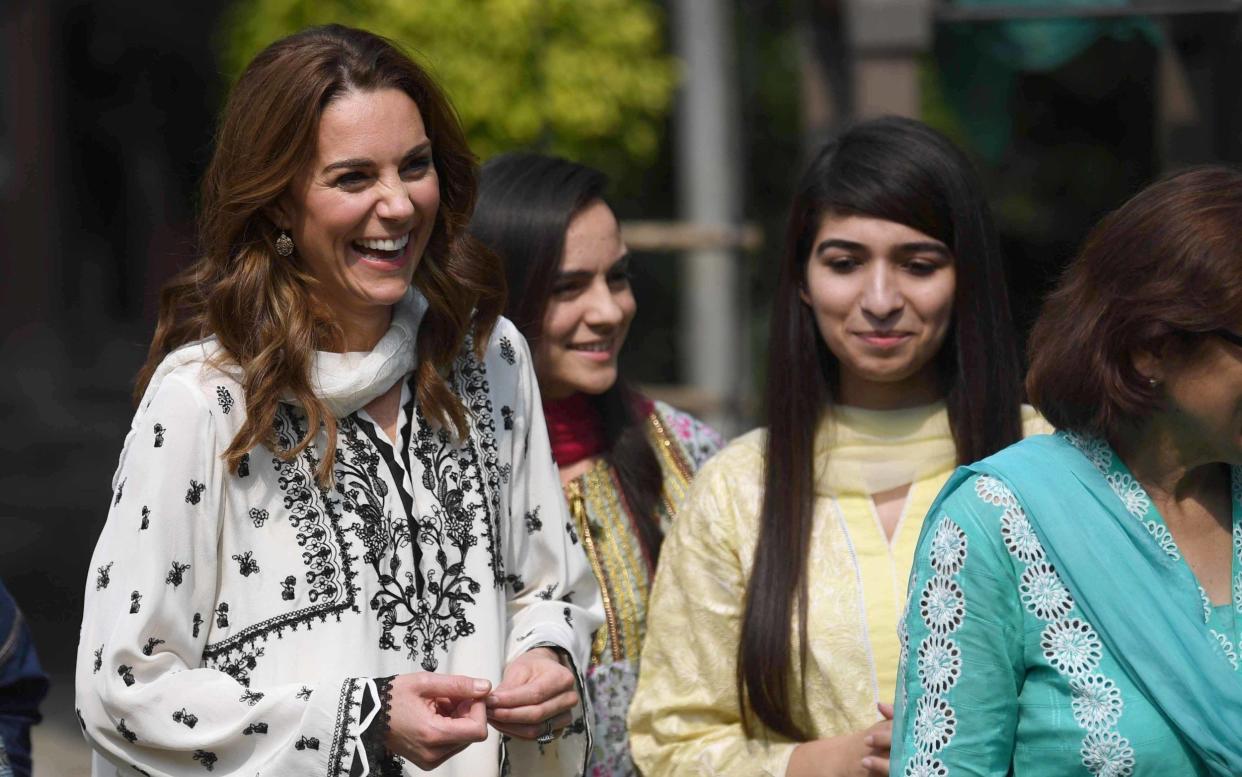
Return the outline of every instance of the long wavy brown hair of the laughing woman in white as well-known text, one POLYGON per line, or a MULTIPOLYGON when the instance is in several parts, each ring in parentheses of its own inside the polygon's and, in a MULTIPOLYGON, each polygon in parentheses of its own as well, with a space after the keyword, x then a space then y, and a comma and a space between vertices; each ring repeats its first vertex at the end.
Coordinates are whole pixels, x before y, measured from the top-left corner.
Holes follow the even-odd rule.
POLYGON ((312 388, 310 364, 315 350, 339 350, 343 334, 315 298, 308 268, 297 256, 276 253, 272 215, 314 158, 324 109, 349 92, 388 88, 419 107, 440 179, 440 210, 414 273, 428 303, 416 341, 416 398, 433 422, 466 434, 466 408, 445 375, 467 335, 482 354, 504 308, 499 261, 466 231, 478 163, 448 99, 394 43, 340 25, 312 27, 260 52, 229 96, 202 180, 200 258, 160 293, 134 392, 137 401, 171 350, 217 338, 241 367, 246 395, 246 421, 224 453, 232 472, 260 444, 291 459, 324 427, 328 444, 317 474, 329 482, 337 423, 312 388), (288 451, 278 449, 272 431, 282 397, 296 400, 308 421, 306 437, 288 451))

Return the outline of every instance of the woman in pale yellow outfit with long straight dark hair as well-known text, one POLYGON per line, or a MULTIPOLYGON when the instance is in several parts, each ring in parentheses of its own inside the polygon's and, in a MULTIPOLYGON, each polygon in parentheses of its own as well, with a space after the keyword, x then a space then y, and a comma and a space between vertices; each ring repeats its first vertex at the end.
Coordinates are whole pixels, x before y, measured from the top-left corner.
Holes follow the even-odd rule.
POLYGON ((831 141, 795 195, 769 426, 699 470, 662 551, 630 709, 647 777, 887 775, 898 622, 958 463, 1051 431, 1021 405, 969 163, 918 122, 831 141))

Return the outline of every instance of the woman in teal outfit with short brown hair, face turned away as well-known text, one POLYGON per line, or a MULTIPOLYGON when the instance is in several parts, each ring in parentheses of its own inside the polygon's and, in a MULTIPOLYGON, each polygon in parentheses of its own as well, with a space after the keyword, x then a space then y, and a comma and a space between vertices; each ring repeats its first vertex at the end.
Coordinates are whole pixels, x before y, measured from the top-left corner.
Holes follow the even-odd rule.
POLYGON ((961 468, 902 629, 893 775, 1242 775, 1242 173, 1092 232, 1031 340, 1061 432, 961 468))

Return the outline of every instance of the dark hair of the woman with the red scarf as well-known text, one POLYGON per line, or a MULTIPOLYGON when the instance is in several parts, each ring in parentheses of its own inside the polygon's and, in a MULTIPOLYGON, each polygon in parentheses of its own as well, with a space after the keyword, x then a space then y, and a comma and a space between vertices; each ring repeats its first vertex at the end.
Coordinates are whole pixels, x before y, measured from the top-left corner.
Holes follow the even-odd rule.
MULTIPOLYGON (((532 344, 543 330, 569 222, 604 200, 607 182, 599 170, 543 154, 503 154, 483 165, 469 231, 503 259, 509 283, 505 315, 532 344)), ((637 396, 619 376, 590 400, 604 421, 605 458, 617 473, 638 539, 655 565, 663 540, 656 516, 663 475, 636 412, 637 396)))

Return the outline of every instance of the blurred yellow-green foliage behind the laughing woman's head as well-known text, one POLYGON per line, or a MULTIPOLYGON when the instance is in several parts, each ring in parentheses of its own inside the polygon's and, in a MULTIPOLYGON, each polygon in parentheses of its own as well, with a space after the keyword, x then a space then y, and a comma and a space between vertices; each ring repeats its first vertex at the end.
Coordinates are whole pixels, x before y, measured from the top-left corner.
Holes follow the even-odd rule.
POLYGON ((658 151, 677 67, 651 0, 241 0, 217 46, 230 82, 272 41, 329 22, 411 52, 483 159, 534 148, 625 177, 658 151))

